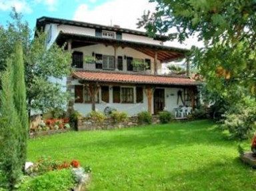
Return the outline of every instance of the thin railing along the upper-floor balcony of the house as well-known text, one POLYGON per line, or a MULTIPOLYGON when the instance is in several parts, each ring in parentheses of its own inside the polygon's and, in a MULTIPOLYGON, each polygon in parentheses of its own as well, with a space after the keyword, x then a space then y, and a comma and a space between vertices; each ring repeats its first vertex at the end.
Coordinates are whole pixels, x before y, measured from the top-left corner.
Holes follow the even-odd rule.
MULTIPOLYGON (((153 63, 153 66, 155 63, 153 63)), ((152 66, 152 65, 151 65, 152 66)), ((141 73, 148 75, 170 75, 171 71, 167 68, 165 63, 157 63, 156 72, 154 68, 147 69, 146 67, 133 66, 133 65, 117 65, 114 64, 103 64, 101 61, 94 61, 91 63, 79 63, 78 65, 73 64, 73 68, 77 70, 86 70, 86 71, 118 71, 121 73, 141 73)))

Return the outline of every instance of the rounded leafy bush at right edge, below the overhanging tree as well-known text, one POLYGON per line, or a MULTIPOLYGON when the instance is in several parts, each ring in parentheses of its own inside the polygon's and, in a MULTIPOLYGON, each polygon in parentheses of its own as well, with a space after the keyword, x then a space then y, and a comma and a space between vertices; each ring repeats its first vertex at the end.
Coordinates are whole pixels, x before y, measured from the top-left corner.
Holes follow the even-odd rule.
POLYGON ((250 138, 256 130, 256 102, 246 98, 225 112, 222 128, 229 130, 231 138, 250 138))

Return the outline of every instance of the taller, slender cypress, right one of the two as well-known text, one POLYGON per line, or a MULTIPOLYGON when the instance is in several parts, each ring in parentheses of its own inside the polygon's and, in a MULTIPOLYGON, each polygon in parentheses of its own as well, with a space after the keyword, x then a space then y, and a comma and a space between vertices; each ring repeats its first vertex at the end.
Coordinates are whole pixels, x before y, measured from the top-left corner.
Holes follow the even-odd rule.
POLYGON ((19 136, 19 154, 21 166, 25 166, 27 156, 27 138, 29 134, 29 122, 27 116, 27 103, 26 103, 26 87, 24 79, 24 62, 23 62, 23 48, 21 42, 15 45, 15 54, 13 57, 13 88, 15 94, 14 104, 17 109, 19 121, 21 123, 20 136, 19 136))

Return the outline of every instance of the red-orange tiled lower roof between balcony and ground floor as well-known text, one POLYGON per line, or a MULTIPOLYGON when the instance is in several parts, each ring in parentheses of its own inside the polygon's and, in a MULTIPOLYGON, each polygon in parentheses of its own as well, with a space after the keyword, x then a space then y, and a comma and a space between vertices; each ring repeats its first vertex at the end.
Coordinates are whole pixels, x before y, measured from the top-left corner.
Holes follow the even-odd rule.
POLYGON ((156 76, 156 75, 135 75, 122 73, 103 73, 92 71, 75 71, 75 79, 84 81, 111 82, 111 83, 133 83, 144 85, 198 85, 193 79, 156 76))

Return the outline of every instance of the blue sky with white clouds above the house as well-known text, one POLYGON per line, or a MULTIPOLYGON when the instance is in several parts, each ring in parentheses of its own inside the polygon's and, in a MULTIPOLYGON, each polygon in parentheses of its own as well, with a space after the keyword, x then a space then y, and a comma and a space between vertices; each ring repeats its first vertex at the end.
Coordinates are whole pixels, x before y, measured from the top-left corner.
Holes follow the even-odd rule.
MULTIPOLYGON (((35 28, 39 17, 57 17, 97 23, 101 25, 120 25, 127 29, 137 29, 137 19, 143 11, 154 11, 155 4, 149 0, 0 0, 0 25, 10 19, 11 8, 22 13, 31 29, 35 28)), ((191 37, 182 45, 177 41, 165 45, 189 49, 192 45, 202 46, 197 38, 191 37)))

